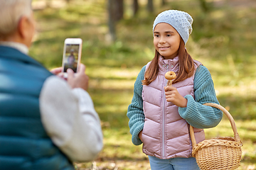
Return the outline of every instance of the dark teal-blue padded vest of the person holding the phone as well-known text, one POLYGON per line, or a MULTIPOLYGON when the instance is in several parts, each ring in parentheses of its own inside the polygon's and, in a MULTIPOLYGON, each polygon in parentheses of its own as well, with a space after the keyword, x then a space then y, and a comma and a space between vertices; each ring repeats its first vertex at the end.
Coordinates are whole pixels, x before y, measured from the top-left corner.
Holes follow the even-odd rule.
POLYGON ((52 74, 31 57, 0 46, 0 169, 70 170, 41 123, 39 95, 52 74))

